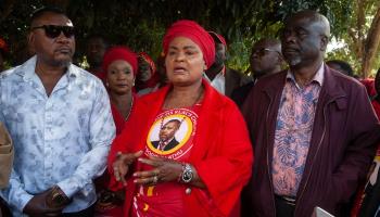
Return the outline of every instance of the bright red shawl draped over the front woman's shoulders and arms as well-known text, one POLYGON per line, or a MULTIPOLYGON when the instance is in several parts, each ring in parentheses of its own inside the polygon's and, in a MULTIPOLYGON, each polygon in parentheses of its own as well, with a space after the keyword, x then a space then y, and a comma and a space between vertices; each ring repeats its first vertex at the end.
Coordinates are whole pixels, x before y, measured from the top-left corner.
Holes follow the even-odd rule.
MULTIPOLYGON (((204 100, 199 113, 194 145, 189 163, 206 186, 205 191, 192 186, 191 193, 182 192, 185 213, 188 216, 227 216, 239 200, 242 187, 251 175, 253 154, 244 119, 232 101, 219 94, 205 80, 204 100), (212 199, 211 203, 207 197, 212 199)), ((139 99, 125 130, 113 142, 109 155, 109 170, 116 153, 143 150, 147 135, 161 111, 170 87, 139 99)), ((136 169, 136 167, 135 167, 136 169)), ((113 189, 123 188, 112 176, 113 189)), ((137 190, 132 178, 127 177, 125 215, 129 216, 131 199, 137 190)))

